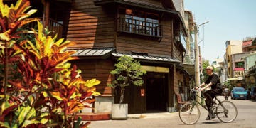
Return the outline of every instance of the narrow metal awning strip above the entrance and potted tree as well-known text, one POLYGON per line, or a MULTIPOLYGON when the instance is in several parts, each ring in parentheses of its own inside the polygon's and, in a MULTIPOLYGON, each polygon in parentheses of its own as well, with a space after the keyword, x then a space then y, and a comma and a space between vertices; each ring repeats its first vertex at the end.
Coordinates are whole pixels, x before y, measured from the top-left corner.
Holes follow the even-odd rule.
POLYGON ((151 62, 151 61, 157 61, 160 63, 180 63, 181 62, 179 60, 176 60, 175 58, 158 57, 158 56, 151 56, 151 55, 134 55, 134 54, 124 54, 124 53, 112 53, 112 55, 117 58, 127 55, 134 59, 138 59, 146 62, 151 62))

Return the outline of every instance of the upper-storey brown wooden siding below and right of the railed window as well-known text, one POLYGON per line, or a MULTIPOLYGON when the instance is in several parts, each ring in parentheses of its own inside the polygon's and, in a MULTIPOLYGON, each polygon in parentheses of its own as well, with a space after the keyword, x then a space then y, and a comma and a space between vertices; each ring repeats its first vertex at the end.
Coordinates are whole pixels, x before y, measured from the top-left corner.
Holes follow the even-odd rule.
POLYGON ((139 37, 136 34, 127 36, 119 34, 117 37, 117 52, 119 53, 148 53, 156 56, 171 57, 171 18, 164 16, 161 20, 163 25, 163 38, 161 41, 152 40, 148 37, 139 37))

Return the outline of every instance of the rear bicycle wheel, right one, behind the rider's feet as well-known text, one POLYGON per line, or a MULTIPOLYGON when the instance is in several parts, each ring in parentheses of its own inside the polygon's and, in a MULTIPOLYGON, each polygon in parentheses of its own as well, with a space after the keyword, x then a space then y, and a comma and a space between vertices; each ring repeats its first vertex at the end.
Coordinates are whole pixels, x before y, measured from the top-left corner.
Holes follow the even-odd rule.
POLYGON ((233 122, 238 116, 238 110, 230 101, 220 102, 218 107, 216 108, 216 114, 218 119, 224 123, 233 122))

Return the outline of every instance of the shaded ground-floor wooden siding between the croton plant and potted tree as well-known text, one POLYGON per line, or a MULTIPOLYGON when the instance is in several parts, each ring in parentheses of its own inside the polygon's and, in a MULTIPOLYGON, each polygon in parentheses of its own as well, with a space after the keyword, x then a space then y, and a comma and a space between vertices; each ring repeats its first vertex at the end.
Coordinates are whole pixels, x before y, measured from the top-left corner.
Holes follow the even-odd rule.
POLYGON ((97 92, 100 92, 102 96, 112 95, 112 88, 107 87, 113 79, 110 75, 110 71, 114 69, 112 60, 75 60, 72 63, 82 70, 82 78, 85 80, 96 78, 101 81, 100 85, 96 86, 97 92))

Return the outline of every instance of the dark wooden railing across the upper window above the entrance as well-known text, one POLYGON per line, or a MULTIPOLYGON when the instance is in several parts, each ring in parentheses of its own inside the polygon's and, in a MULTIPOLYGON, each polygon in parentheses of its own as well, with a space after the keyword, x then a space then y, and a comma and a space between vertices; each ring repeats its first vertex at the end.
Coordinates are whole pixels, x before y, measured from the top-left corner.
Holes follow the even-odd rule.
POLYGON ((159 23, 132 18, 119 18, 119 31, 156 38, 162 37, 162 28, 159 23))

